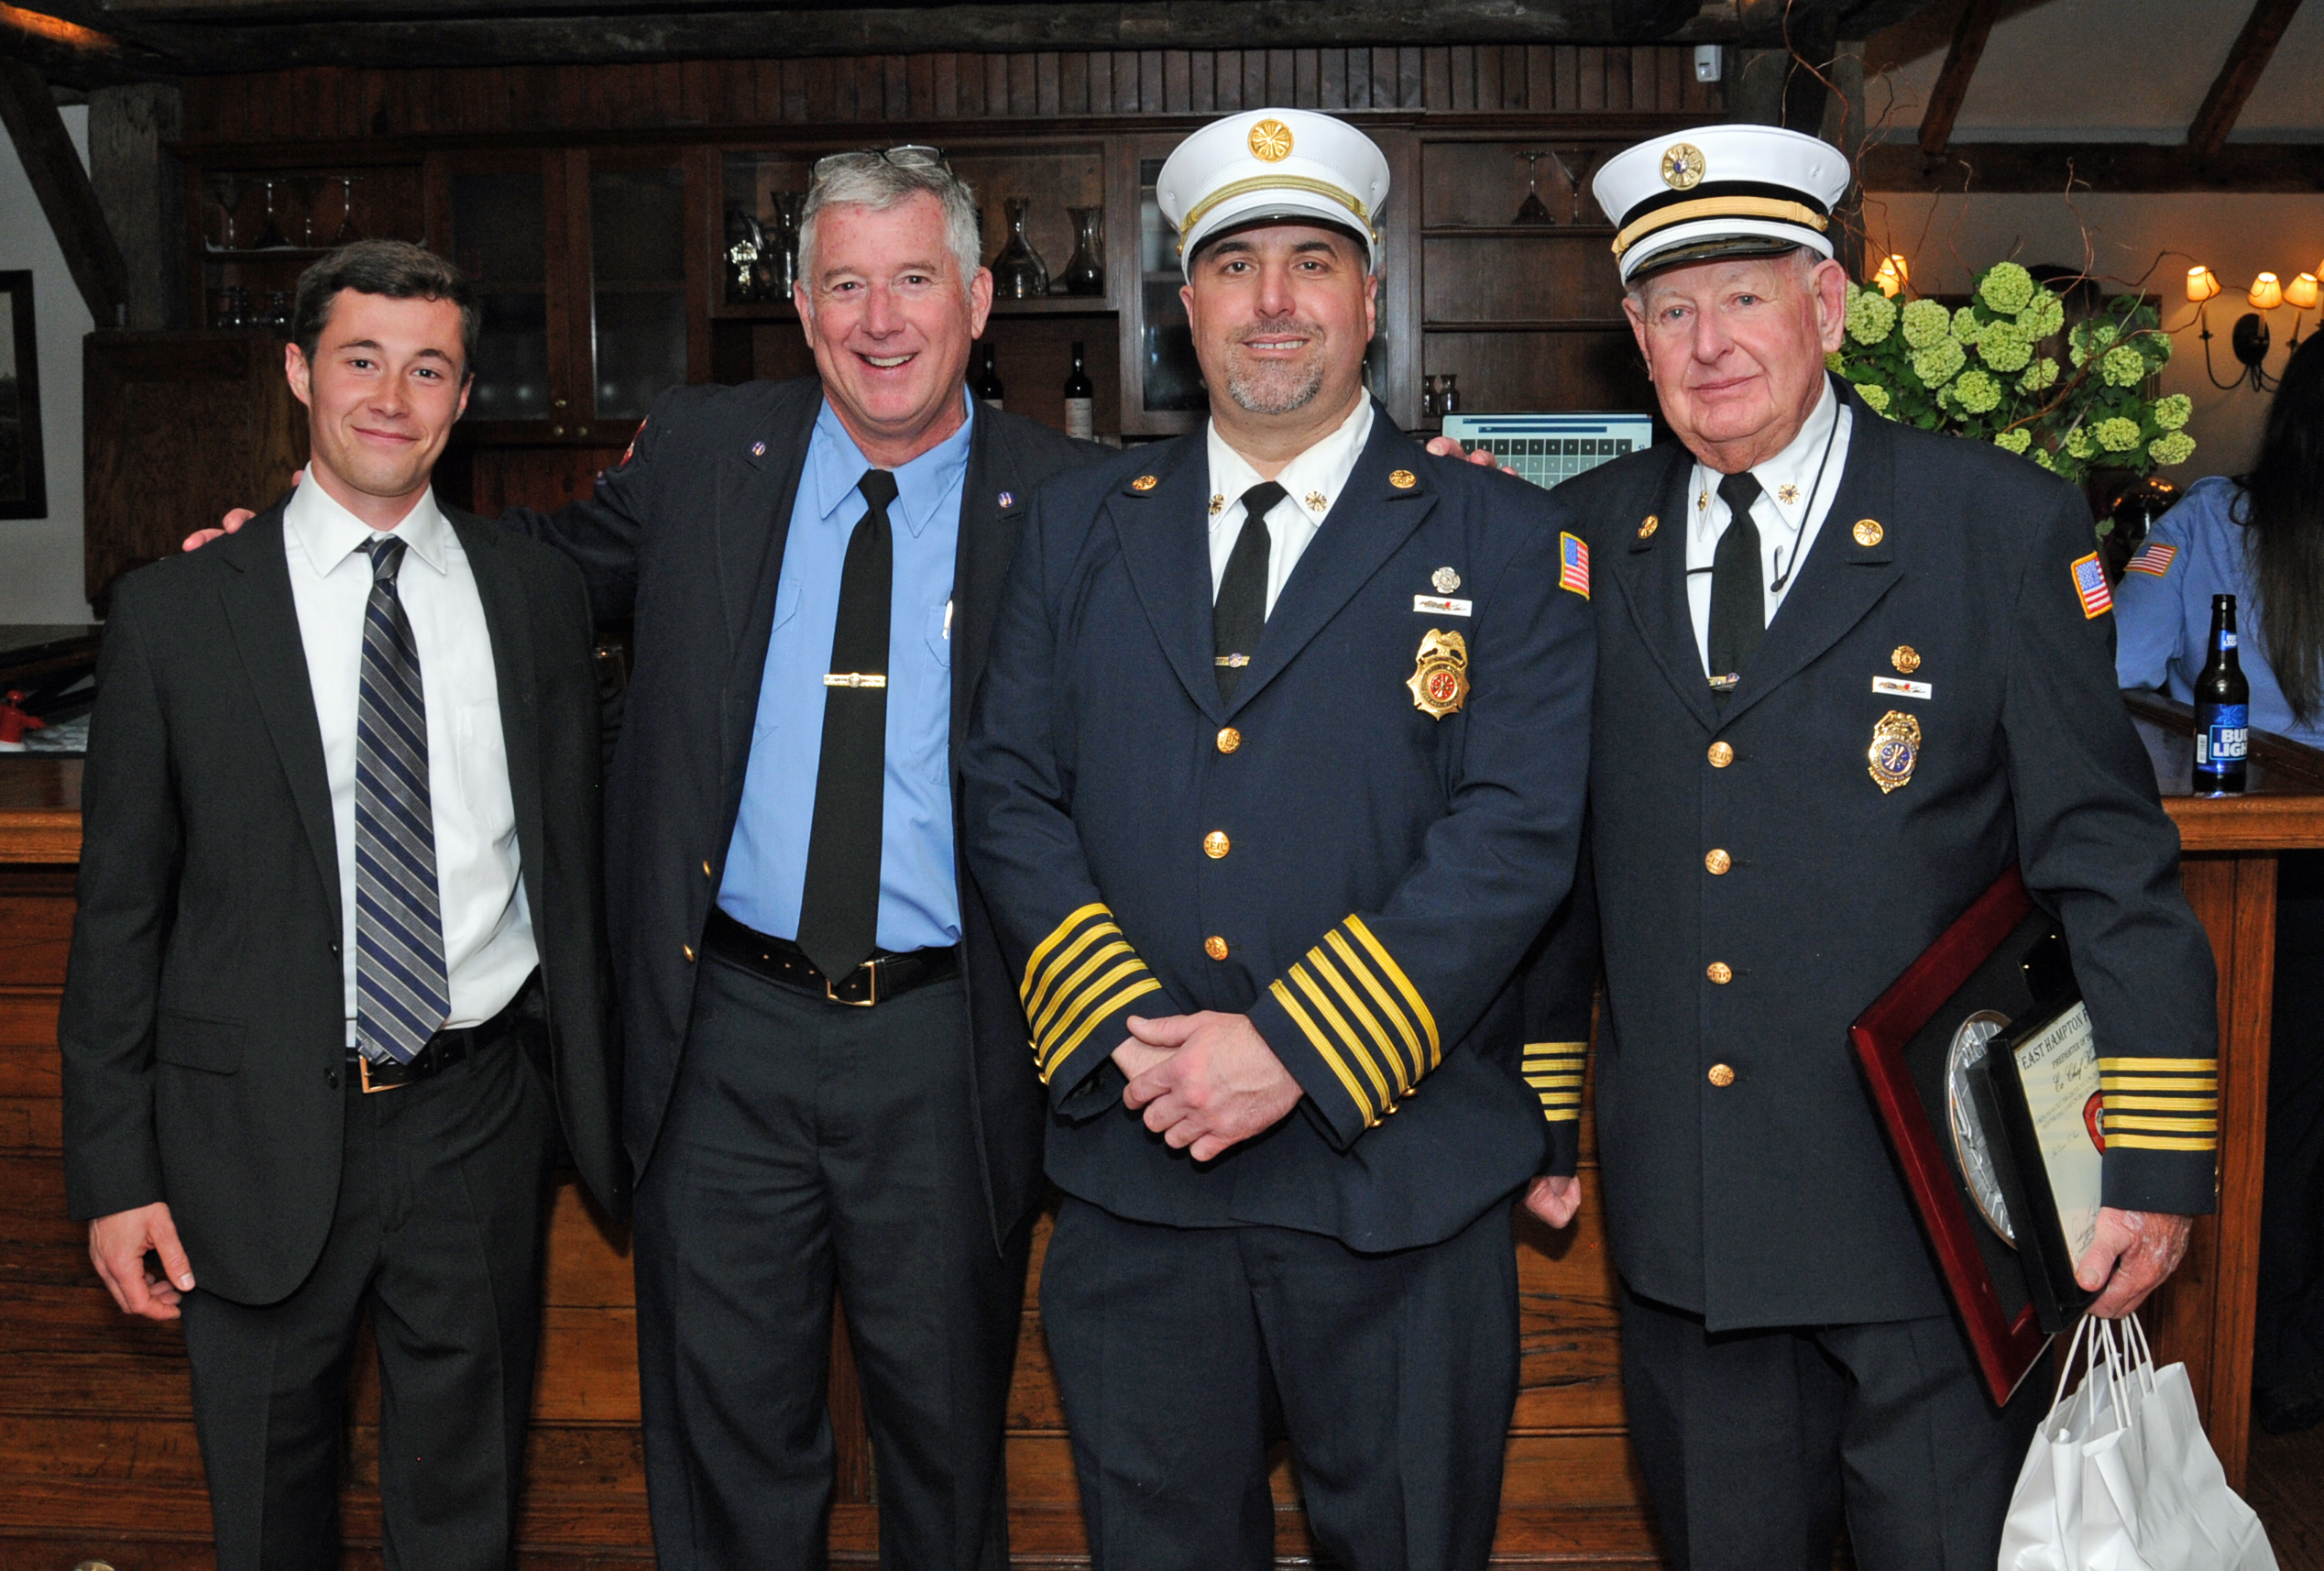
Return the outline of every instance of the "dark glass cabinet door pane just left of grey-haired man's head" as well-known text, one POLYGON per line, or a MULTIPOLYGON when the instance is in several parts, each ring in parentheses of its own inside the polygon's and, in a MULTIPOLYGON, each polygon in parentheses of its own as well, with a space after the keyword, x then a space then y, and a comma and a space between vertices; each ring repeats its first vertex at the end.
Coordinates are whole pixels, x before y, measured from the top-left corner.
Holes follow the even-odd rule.
POLYGON ((686 172, 590 170, 590 358, 600 421, 686 381, 686 172))

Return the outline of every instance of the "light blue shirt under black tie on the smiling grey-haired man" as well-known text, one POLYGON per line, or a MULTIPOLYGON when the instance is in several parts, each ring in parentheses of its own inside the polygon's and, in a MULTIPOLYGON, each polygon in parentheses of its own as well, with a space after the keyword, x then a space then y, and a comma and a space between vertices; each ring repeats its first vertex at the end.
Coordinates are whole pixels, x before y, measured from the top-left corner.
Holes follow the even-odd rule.
MULTIPOLYGON (((960 393, 967 402, 967 388, 960 393)), ((953 881, 953 558, 969 479, 974 404, 960 430, 895 472, 888 525, 895 579, 888 602, 888 795, 881 811, 878 946, 960 944, 953 881)), ((865 516, 855 483, 871 460, 825 402, 806 442, 790 507, 774 634, 758 688, 758 725, 727 841, 718 906, 744 927, 799 937, 806 841, 823 762, 823 674, 839 627, 839 574, 865 516)))

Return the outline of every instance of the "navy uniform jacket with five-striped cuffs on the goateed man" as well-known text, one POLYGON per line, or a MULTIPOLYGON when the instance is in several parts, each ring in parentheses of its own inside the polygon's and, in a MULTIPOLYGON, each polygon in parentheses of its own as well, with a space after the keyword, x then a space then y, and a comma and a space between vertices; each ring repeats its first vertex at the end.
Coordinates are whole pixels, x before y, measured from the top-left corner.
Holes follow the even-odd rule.
POLYGON ((1434 1243, 1552 1162, 1511 976, 1580 841, 1587 562, 1543 493, 1376 411, 1227 704, 1206 493, 1199 435, 1041 486, 962 762, 1048 1174, 1134 1220, 1434 1243), (1466 648, 1443 718, 1408 686, 1432 632, 1466 648), (1132 1013, 1199 1009, 1248 1013, 1306 1092, 1206 1164, 1109 1057, 1132 1013))

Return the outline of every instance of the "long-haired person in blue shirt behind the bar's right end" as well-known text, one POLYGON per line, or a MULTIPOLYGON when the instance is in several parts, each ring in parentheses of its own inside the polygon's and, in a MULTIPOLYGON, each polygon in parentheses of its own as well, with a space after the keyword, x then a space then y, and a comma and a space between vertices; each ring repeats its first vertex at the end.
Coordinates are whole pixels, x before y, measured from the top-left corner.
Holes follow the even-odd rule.
MULTIPOLYGON (((2252 727, 2324 746, 2324 335, 2301 344, 2247 474, 2215 474, 2154 521, 2115 590, 2115 676, 2194 695, 2210 597, 2233 595, 2252 727)), ((2252 1415, 2324 1422, 2324 853, 2284 855, 2275 890, 2275 1041, 2259 1220, 2252 1415)))

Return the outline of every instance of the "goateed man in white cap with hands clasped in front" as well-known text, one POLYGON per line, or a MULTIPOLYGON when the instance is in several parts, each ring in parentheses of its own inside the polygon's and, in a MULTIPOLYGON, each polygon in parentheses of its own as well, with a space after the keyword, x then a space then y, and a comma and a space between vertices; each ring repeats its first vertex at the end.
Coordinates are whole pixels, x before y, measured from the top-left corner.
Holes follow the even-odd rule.
MULTIPOLYGON (((1580 844, 1590 558, 1364 393, 1371 139, 1236 114, 1160 198, 1211 421, 1037 493, 964 758, 1050 1099, 1090 1545, 1271 1566, 1287 1436, 1336 1564, 1480 1569, 1511 1197, 1578 1129, 1511 976, 1580 844)), ((1587 992, 1552 990, 1555 1057, 1587 992)))

